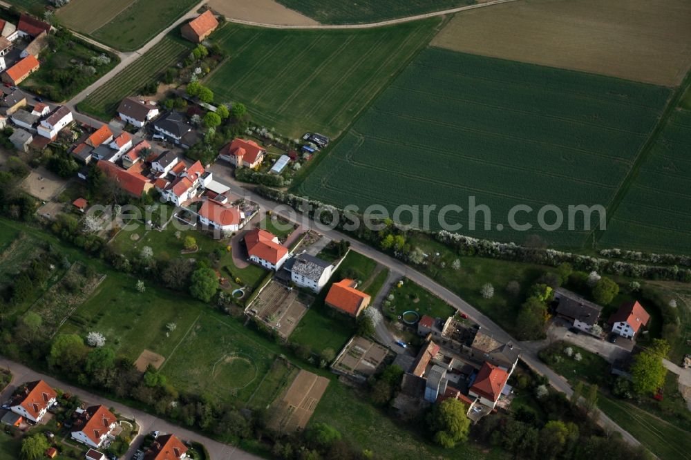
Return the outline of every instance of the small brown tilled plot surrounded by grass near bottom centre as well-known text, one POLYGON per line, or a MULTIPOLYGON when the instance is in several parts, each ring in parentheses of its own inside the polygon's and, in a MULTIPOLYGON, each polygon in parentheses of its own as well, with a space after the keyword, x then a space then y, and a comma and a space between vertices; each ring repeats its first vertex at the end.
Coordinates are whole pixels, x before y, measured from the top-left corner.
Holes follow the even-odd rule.
POLYGON ((284 433, 305 428, 328 385, 328 378, 301 370, 283 398, 274 403, 269 426, 284 433))

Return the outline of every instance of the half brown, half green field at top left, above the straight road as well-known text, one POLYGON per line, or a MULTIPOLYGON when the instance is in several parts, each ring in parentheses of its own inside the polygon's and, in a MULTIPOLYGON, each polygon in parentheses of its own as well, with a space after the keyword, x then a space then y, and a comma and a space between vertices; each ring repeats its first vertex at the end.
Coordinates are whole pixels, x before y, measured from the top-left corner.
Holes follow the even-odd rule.
POLYGON ((133 51, 196 3, 197 0, 72 0, 57 11, 57 17, 68 28, 108 46, 133 51), (146 18, 146 26, 142 26, 142 18, 146 18))

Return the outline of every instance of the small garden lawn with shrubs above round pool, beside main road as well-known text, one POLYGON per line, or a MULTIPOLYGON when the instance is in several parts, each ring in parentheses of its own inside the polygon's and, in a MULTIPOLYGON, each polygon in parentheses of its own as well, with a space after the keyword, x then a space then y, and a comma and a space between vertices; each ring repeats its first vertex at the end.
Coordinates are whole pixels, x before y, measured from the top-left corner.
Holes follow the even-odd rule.
POLYGON ((384 313, 387 316, 393 316, 396 320, 398 316, 410 310, 417 312, 421 317, 428 315, 433 318, 442 318, 442 320, 453 316, 456 312, 455 308, 448 305, 444 300, 416 285, 408 278, 404 279, 401 287, 395 285, 389 295, 391 294, 393 294, 394 299, 386 300, 390 302, 390 305, 384 307, 384 313))

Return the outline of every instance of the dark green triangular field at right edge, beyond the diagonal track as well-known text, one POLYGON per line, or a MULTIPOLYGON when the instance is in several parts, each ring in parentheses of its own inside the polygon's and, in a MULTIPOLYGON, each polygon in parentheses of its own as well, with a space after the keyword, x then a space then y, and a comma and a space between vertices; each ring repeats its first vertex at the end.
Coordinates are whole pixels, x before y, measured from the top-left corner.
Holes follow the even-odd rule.
POLYGON ((609 222, 605 247, 691 253, 691 111, 672 113, 609 222))

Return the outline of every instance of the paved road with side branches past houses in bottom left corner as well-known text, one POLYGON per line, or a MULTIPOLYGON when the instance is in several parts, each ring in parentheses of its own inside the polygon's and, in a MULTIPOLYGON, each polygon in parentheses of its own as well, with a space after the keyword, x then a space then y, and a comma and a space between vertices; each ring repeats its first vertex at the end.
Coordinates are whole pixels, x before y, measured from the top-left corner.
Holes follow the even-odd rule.
POLYGON ((134 452, 134 450, 136 450, 136 446, 140 445, 140 441, 144 437, 144 434, 154 430, 173 433, 177 437, 180 437, 181 439, 184 439, 186 441, 195 441, 204 444, 206 448, 209 450, 209 454, 211 454, 211 459, 213 460, 261 459, 261 457, 256 457, 256 455, 249 454, 231 445, 226 445, 224 443, 214 441, 213 439, 209 439, 205 436, 201 436, 196 432, 192 432, 190 430, 181 428, 177 425, 173 425, 172 423, 159 419, 158 417, 153 416, 151 414, 147 414, 146 412, 142 412, 141 410, 129 408, 126 405, 116 403, 115 401, 110 401, 108 399, 102 398, 101 396, 96 396, 95 394, 86 392, 80 388, 73 387, 61 381, 58 381, 53 377, 31 370, 24 365, 15 363, 14 361, 9 361, 6 358, 0 357, 0 366, 9 369, 10 372, 12 372, 13 376, 12 384, 10 384, 9 387, 5 390, 5 392, 3 392, 2 395, 0 395, 0 401, 5 401, 6 398, 15 390, 15 387, 17 387, 17 385, 19 385, 20 383, 43 379, 44 381, 48 382, 48 385, 50 386, 60 388, 61 390, 70 392, 71 394, 76 394, 77 396, 79 396, 80 399, 82 399, 82 401, 86 401, 91 404, 103 404, 108 408, 115 408, 115 410, 117 412, 120 412, 120 414, 130 419, 135 419, 141 427, 140 432, 143 434, 141 434, 140 437, 133 441, 132 447, 130 449, 131 452, 128 452, 128 454, 126 454, 126 456, 124 457, 126 459, 131 458, 131 454, 134 452))

